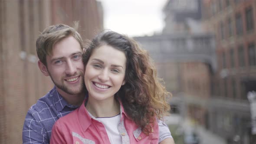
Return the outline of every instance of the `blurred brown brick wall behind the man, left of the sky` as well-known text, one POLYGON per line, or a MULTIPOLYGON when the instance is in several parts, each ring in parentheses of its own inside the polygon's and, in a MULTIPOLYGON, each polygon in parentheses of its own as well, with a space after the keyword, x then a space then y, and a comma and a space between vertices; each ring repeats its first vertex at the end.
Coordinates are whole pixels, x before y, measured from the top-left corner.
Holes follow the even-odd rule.
POLYGON ((79 20, 91 39, 103 28, 96 0, 0 0, 0 143, 22 141, 26 112, 53 84, 37 67, 36 38, 47 26, 79 20))

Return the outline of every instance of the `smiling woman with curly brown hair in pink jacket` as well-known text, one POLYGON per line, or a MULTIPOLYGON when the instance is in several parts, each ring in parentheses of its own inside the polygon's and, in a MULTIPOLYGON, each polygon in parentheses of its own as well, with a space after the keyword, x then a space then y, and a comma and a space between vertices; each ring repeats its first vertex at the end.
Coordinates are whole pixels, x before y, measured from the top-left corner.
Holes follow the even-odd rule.
POLYGON ((108 31, 92 40, 83 62, 88 98, 54 124, 51 143, 158 144, 157 119, 168 115, 171 95, 148 53, 108 31))

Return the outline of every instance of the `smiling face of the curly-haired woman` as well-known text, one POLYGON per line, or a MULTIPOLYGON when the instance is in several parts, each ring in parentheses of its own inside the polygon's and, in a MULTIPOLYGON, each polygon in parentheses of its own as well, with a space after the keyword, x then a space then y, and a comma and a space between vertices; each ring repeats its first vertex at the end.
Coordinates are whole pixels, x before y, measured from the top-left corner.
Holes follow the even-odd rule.
POLYGON ((125 68, 125 52, 108 45, 94 49, 85 67, 89 98, 98 101, 114 98, 125 82, 125 68))

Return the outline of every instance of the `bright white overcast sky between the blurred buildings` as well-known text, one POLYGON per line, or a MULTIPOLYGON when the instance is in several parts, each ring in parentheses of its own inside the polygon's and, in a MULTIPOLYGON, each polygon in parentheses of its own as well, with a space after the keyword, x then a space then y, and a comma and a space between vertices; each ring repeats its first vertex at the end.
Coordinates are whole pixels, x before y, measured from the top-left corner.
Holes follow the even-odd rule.
POLYGON ((164 27, 167 0, 98 0, 104 11, 104 28, 128 36, 151 36, 164 27))

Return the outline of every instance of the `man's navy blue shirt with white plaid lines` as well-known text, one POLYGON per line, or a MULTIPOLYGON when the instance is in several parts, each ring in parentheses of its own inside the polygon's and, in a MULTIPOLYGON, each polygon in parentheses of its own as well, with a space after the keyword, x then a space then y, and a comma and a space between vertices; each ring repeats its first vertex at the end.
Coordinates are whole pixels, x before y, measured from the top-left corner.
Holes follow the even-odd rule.
MULTIPOLYGON (((79 106, 68 104, 54 87, 29 109, 23 125, 23 144, 49 144, 53 124, 76 108, 79 106)), ((159 142, 171 137, 166 124, 158 122, 158 125, 159 142)))

